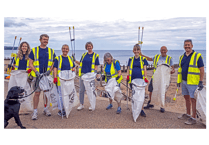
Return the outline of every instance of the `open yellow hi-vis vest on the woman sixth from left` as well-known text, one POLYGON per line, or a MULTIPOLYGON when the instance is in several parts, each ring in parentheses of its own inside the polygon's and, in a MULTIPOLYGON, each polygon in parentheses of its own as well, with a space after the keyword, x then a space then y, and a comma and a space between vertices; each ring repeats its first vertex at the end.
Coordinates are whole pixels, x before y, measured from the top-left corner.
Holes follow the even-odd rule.
MULTIPOLYGON (((130 57, 130 59, 131 59, 131 64, 130 64, 130 68, 129 68, 129 82, 128 83, 131 83, 131 76, 132 76, 133 64, 134 64, 134 56, 130 57)), ((145 78, 144 77, 144 59, 146 59, 146 58, 142 57, 142 56, 139 56, 139 59, 140 59, 142 78, 144 79, 145 78)))

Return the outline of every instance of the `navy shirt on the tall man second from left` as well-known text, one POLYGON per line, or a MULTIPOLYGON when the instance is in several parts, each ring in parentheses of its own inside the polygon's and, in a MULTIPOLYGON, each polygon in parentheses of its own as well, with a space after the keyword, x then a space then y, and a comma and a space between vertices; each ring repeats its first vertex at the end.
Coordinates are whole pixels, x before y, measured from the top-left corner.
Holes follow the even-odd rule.
MULTIPOLYGON (((54 53, 53 60, 55 59, 55 57, 56 55, 54 53)), ((33 51, 30 52, 29 58, 34 60, 33 51)), ((39 71, 40 73, 44 73, 47 71, 48 60, 49 60, 48 47, 43 49, 39 46, 39 71)))

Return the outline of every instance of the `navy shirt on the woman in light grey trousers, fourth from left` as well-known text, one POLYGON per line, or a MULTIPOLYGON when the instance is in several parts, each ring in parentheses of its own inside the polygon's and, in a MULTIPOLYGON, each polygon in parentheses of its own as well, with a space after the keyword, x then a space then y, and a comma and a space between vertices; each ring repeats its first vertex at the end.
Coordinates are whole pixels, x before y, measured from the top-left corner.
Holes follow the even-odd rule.
MULTIPOLYGON (((91 72, 91 64, 92 64, 92 57, 93 57, 93 54, 86 54, 85 57, 83 58, 83 65, 82 65, 82 68, 81 68, 81 73, 88 73, 88 72, 91 72)), ((82 60, 82 56, 81 56, 81 60, 82 60)), ((81 62, 80 60, 80 62, 81 62)), ((96 58, 96 61, 95 61, 95 65, 99 65, 99 57, 96 58)))

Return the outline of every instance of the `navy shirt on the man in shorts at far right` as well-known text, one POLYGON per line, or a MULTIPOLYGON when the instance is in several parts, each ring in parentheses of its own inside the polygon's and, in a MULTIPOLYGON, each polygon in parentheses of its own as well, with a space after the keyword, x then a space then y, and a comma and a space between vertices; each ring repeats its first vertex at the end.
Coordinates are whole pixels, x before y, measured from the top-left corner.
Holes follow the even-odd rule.
MULTIPOLYGON (((194 53, 194 50, 192 51, 192 53, 189 56, 186 56, 186 52, 184 53, 184 56, 181 60, 181 67, 182 67, 182 80, 187 81, 187 74, 188 74, 188 68, 189 68, 189 62, 191 59, 192 54, 194 53)), ((202 57, 199 57, 198 61, 197 61, 197 67, 203 67, 204 63, 202 60, 202 57)))

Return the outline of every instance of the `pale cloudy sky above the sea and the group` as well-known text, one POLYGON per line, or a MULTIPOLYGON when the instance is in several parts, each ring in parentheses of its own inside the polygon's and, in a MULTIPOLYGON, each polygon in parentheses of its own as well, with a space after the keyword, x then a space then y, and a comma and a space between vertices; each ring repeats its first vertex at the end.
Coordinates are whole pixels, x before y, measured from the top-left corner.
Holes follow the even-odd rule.
POLYGON ((82 20, 62 17, 4 17, 4 45, 12 46, 14 37, 27 41, 31 47, 40 44, 41 34, 49 35, 48 46, 59 50, 70 43, 72 26, 75 27, 75 49, 83 50, 91 41, 95 50, 131 50, 140 41, 143 31, 144 50, 159 50, 167 46, 169 50, 183 49, 183 41, 192 39, 194 48, 206 49, 206 17, 139 17, 134 20, 115 19, 108 21, 82 20))

